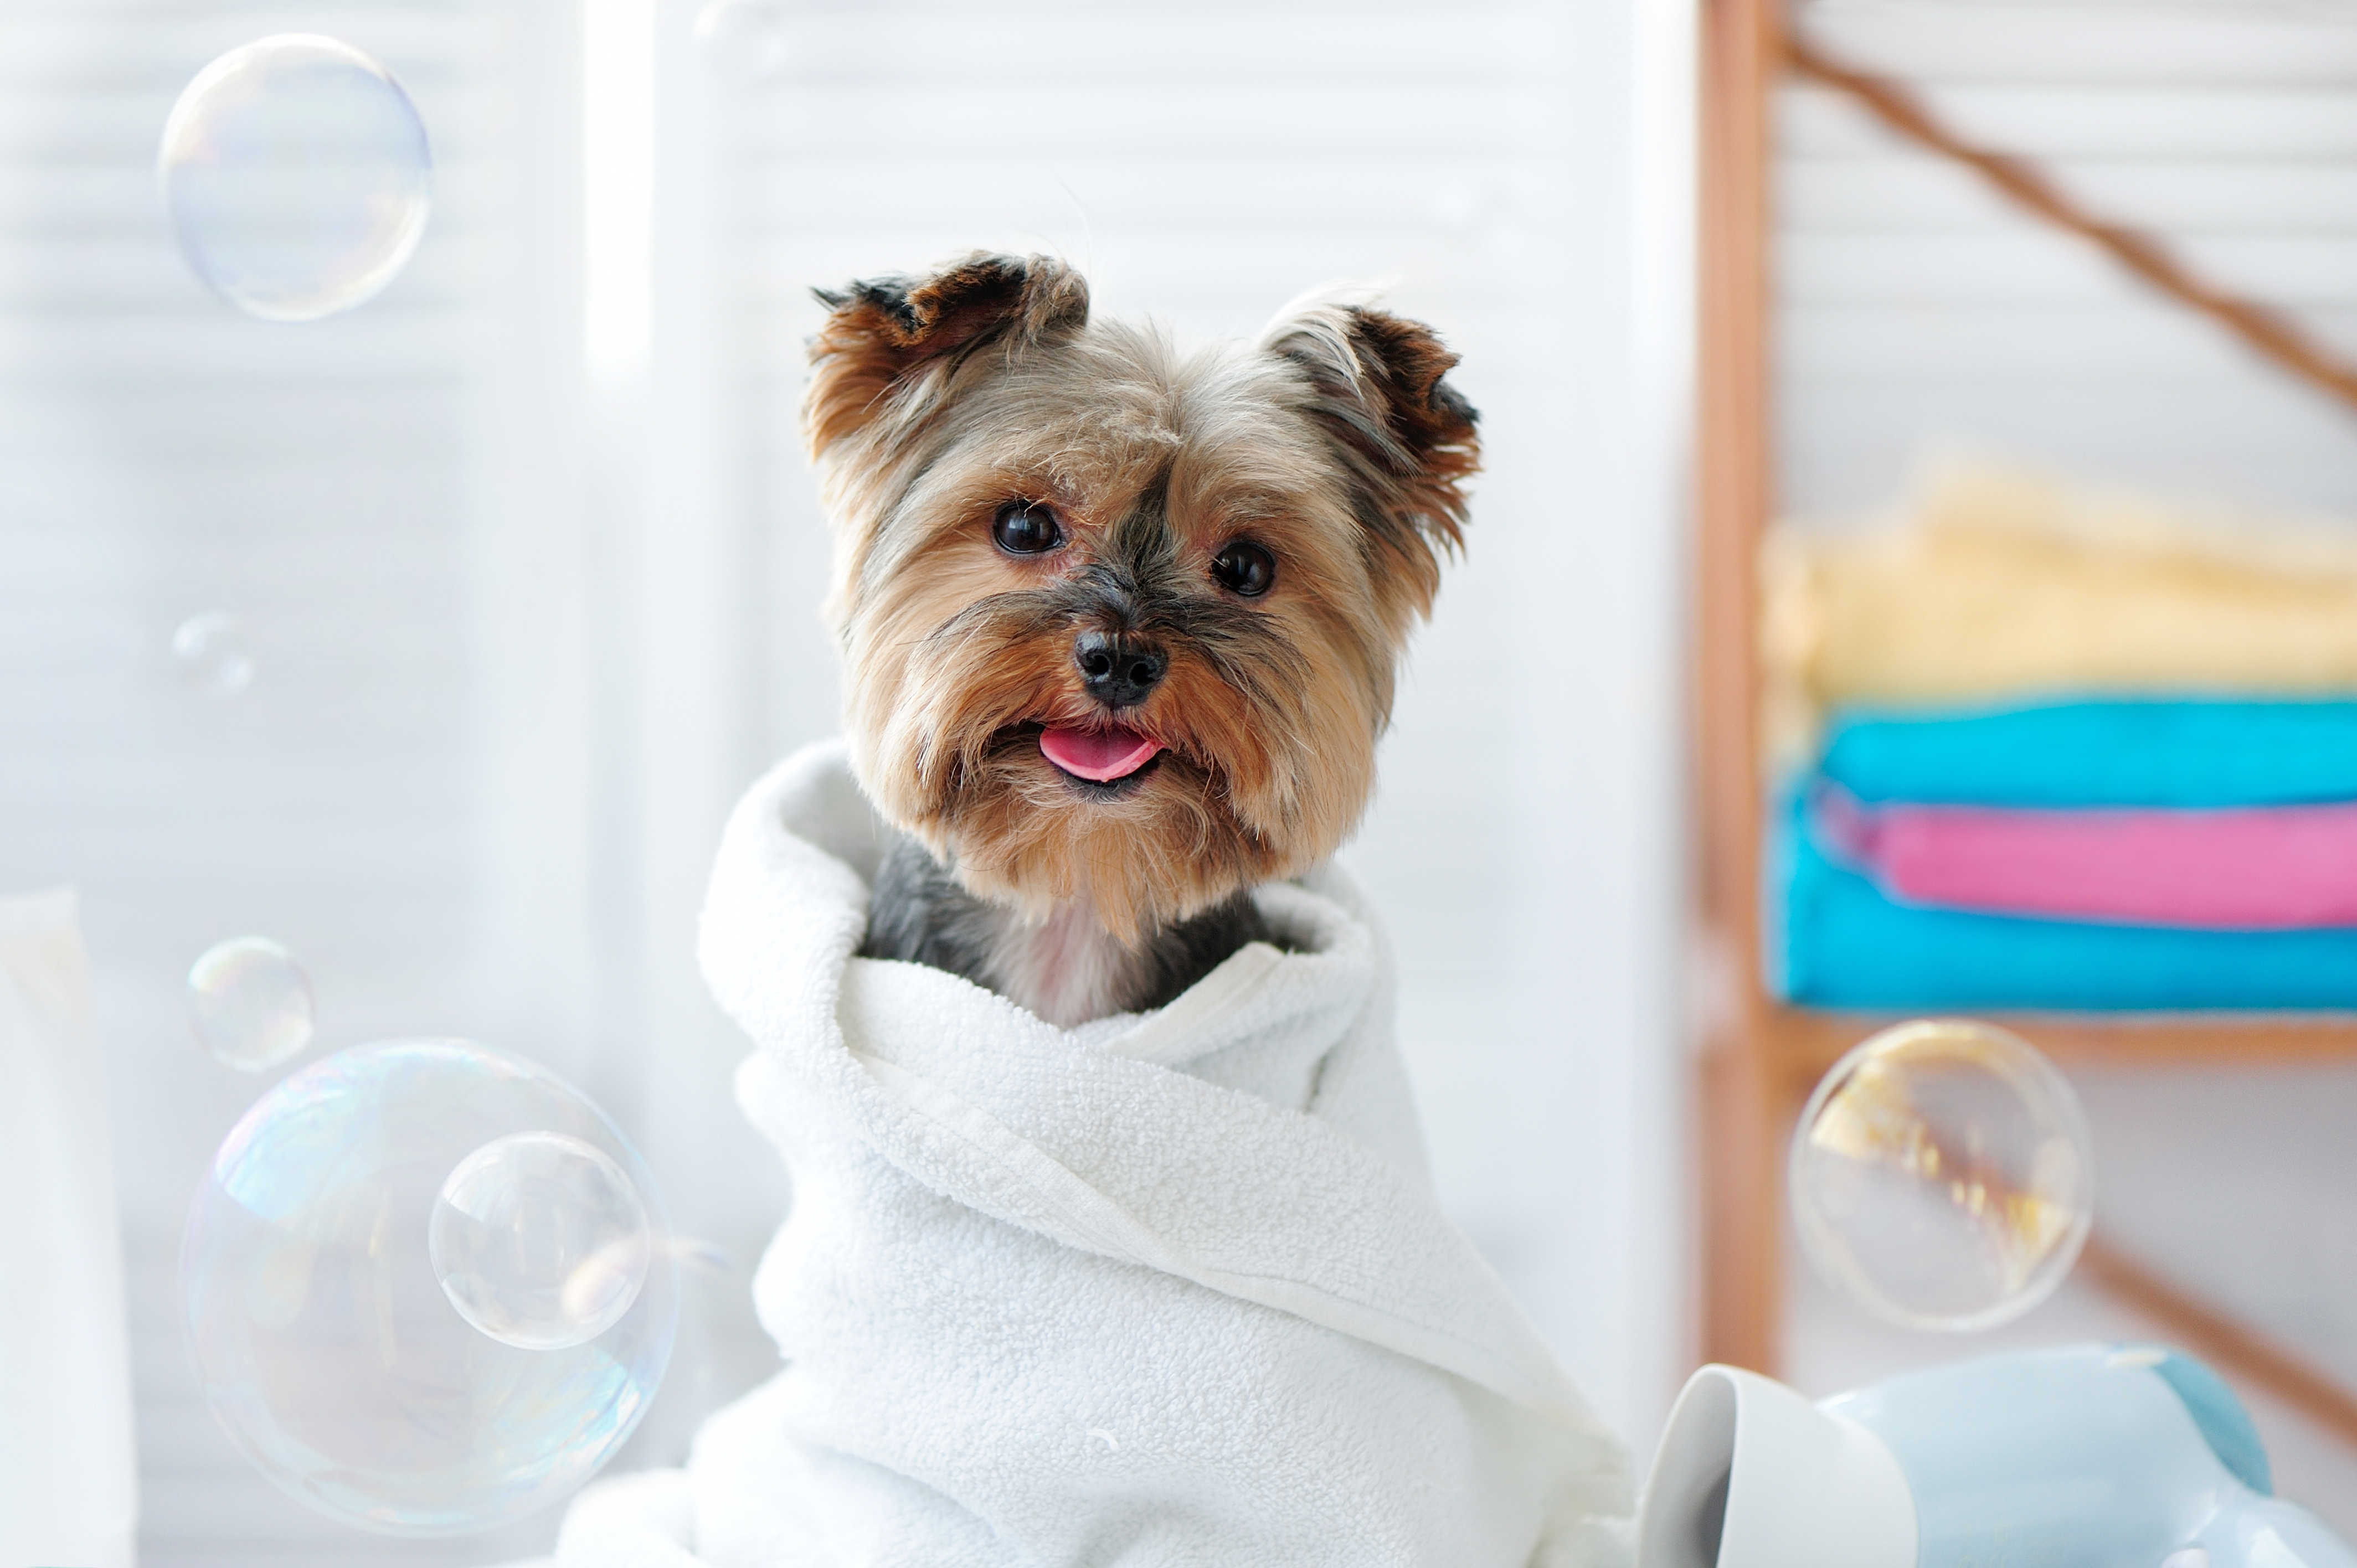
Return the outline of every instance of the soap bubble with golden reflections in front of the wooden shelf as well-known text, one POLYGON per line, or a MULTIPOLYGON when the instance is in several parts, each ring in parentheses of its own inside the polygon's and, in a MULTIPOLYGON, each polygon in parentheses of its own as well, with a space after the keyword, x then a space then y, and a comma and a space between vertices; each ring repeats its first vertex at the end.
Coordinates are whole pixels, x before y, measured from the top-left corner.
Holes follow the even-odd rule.
POLYGON ((2093 1198, 2069 1082, 2025 1040, 1961 1019, 1853 1049, 1791 1144, 1810 1261, 1912 1327, 1996 1327, 2044 1302, 2079 1261, 2093 1198))

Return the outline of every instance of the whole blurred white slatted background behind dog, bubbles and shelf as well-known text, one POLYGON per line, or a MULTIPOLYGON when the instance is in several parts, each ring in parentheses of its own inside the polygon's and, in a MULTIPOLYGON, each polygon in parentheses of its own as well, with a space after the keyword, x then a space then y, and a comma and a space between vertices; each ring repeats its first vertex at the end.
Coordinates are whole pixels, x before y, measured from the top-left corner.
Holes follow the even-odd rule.
MULTIPOLYGON (((1758 755, 1697 738, 1692 700, 1723 630, 1697 582, 1758 604, 1749 545, 1725 559, 1697 528, 1697 57, 1768 12, 0 0, 0 894, 80 889, 141 1559, 464 1566, 554 1535, 554 1516, 356 1535, 271 1490, 205 1410, 179 1226, 264 1085, 189 1033, 184 976, 226 936, 302 957, 321 1052, 464 1035, 570 1075, 641 1144, 679 1226, 738 1259, 688 1280, 625 1467, 676 1462, 773 1370, 747 1278, 790 1193, 735 1113, 745 1042, 695 974, 695 915, 738 792, 834 731, 827 538, 794 417, 808 290, 971 248, 1063 255, 1098 311, 1183 337, 1256 332, 1318 283, 1388 283, 1464 354, 1487 474, 1346 858, 1391 922, 1450 1212, 1650 1452, 1728 1294, 1697 1066, 1723 1061, 1730 1021, 1765 1037, 1763 1019, 1796 1019, 1838 1049, 1895 1007, 1780 990, 1772 863, 1737 887, 1756 953, 1695 896, 1697 806, 1758 811, 1775 788, 1758 755), (214 299, 156 189, 181 87, 288 31, 379 59, 434 144, 415 259, 304 325, 214 299), (233 618, 243 691, 186 679, 174 632, 198 615, 233 618)), ((2357 354, 2357 2, 1777 14, 2357 354)), ((2350 542, 2348 406, 1855 92, 1763 83, 1747 276, 1756 502, 1780 549, 1831 561, 1907 526, 1940 460, 2180 507, 2234 549, 2286 528, 2312 554, 2350 542)), ((1772 717, 1749 615, 1739 696, 1772 717)), ((2001 615, 1968 632, 1999 651, 2020 634, 2001 615)), ((1949 1004, 1897 1012, 1916 1000, 1949 1004)), ((2074 1042, 2058 1054, 2093 1120, 2098 1231, 2357 1386, 2345 1026, 2298 1035, 2310 1066, 2166 1068, 2124 1066, 2133 1026, 2022 1030, 2074 1042)), ((1768 1108, 1772 1139, 1791 1108, 1768 1108)), ((1782 1226, 1772 1172, 1749 1170, 1737 1198, 1782 1226)), ((1810 1394, 2001 1344, 2166 1337, 2081 1280, 1956 1339, 1879 1325, 1791 1245, 1765 1273, 1749 1353, 1810 1394)), ((2284 1490, 2357 1530, 2352 1448, 2237 1386, 2284 1490)))

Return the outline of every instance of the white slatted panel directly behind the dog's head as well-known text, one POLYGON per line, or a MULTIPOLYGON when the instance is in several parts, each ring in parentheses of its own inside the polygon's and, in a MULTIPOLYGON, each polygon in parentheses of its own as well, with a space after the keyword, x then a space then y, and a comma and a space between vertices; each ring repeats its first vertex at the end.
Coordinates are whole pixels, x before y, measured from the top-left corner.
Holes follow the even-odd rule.
MULTIPOLYGON (((1464 354, 1490 472, 1351 858, 1402 955, 1445 1195, 1643 1441, 1683 1349, 1662 417, 1678 361, 1662 323, 1631 325, 1638 12, 806 2, 780 75, 717 104, 714 203, 742 311, 721 340, 766 439, 752 505, 783 519, 771 689, 790 738, 832 726, 811 681, 825 540, 794 439, 811 285, 1049 250, 1098 311, 1249 335, 1303 288, 1388 278, 1464 354), (1648 328, 1669 365, 1652 387, 1633 370, 1648 328)), ((1676 38, 1655 90, 1683 80, 1676 38)), ((1655 108, 1678 123, 1673 97, 1655 108)), ((1657 174, 1673 210, 1678 167, 1657 174)), ((1676 241, 1655 255, 1669 271, 1648 283, 1683 311, 1676 241)))

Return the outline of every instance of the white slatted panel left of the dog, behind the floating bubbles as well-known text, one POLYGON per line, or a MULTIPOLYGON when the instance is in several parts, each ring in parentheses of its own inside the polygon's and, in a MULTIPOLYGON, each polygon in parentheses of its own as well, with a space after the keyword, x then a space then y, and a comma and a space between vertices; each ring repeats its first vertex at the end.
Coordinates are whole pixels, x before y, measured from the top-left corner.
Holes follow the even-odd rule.
MULTIPOLYGON (((174 1290, 198 1172, 262 1087, 189 1037, 196 953, 240 931, 295 946, 325 1045, 481 1028, 497 990, 476 677, 488 441, 516 391, 526 17, 467 0, 0 7, 0 884, 82 887, 151 1568, 455 1563, 544 1537, 384 1542, 264 1485, 196 1396, 174 1290), (280 31, 379 57, 438 156, 405 276, 297 328, 193 281, 153 177, 179 87, 280 31), (172 630, 210 608, 245 620, 259 660, 236 700, 174 679, 172 630)), ((549 1035, 519 1049, 556 1054, 549 1035)))

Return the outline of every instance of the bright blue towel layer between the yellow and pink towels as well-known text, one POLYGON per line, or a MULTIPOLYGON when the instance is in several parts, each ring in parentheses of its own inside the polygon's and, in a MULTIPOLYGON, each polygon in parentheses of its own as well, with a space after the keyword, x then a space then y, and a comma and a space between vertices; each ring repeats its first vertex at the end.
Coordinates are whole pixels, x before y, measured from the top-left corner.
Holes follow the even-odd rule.
POLYGON ((2357 703, 2058 703, 1836 714, 1822 771, 1862 802, 2279 806, 2357 799, 2357 703))

